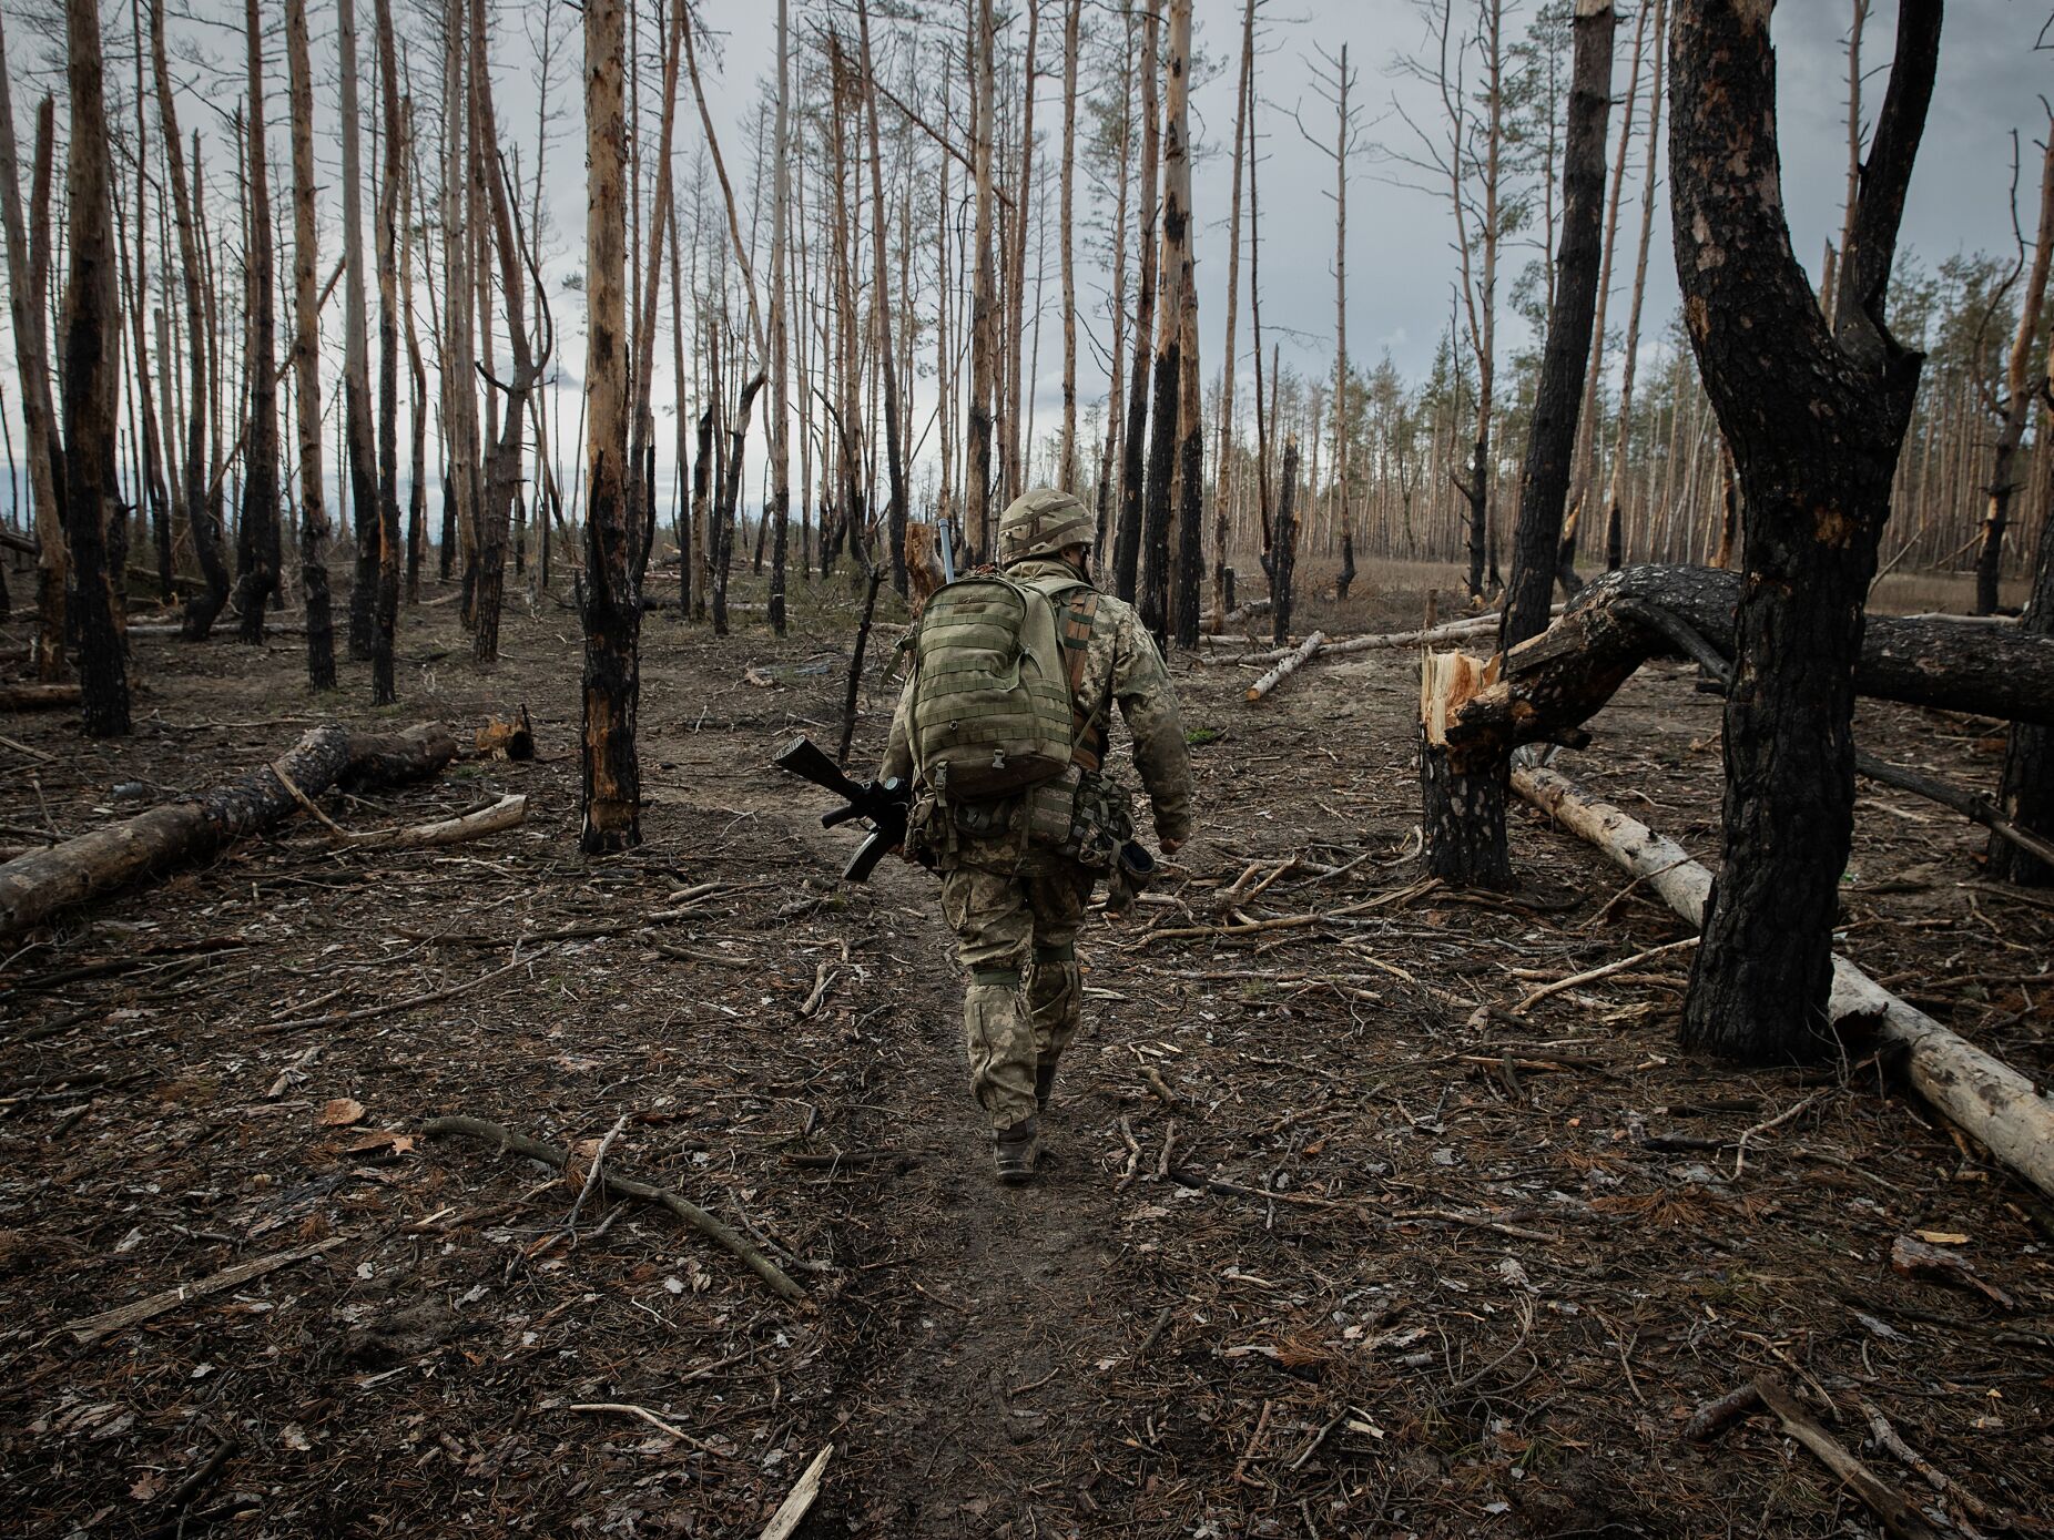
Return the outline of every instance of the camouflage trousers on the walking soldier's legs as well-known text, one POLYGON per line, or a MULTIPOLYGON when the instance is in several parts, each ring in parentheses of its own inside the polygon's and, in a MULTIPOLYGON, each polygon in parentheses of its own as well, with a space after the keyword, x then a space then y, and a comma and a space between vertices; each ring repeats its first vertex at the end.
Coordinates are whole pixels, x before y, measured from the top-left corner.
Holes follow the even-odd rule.
POLYGON ((1076 930, 1095 873, 1050 850, 1015 871, 955 867, 941 875, 941 912, 955 930, 969 1088, 1006 1129, 1033 1117, 1037 1066, 1054 1066, 1082 1021, 1076 930))

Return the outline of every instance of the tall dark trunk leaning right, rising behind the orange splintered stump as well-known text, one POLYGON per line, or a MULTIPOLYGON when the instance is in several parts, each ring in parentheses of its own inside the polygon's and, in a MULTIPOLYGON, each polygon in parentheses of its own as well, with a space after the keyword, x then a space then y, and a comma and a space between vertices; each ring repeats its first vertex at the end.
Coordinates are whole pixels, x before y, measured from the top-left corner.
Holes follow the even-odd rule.
POLYGON ((1512 585, 1499 649, 1547 630, 1561 559, 1561 522, 1575 472, 1575 441, 1590 333, 1604 259, 1604 138, 1612 111, 1610 0, 1575 0, 1575 57, 1569 66, 1569 131, 1561 156, 1561 257, 1549 314, 1540 384, 1520 476, 1520 517, 1512 536, 1512 585))

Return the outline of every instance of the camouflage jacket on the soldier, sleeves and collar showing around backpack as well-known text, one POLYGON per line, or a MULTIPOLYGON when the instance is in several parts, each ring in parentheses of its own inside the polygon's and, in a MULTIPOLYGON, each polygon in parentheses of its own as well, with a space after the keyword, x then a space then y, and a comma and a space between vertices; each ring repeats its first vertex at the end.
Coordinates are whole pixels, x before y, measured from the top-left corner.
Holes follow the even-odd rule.
MULTIPOLYGON (((1074 579, 1076 571, 1054 556, 1031 556, 1009 567, 1006 575, 1031 583, 1045 577, 1074 579)), ((1156 838, 1187 840, 1191 836, 1191 749, 1183 737, 1183 715, 1177 710, 1169 669, 1134 606, 1121 604, 1111 593, 1099 593, 1074 704, 1078 715, 1103 733, 1115 702, 1128 723, 1128 735, 1134 739, 1134 768, 1140 772, 1142 788, 1154 811, 1156 838)), ((912 680, 908 678, 891 717, 891 741, 879 770, 883 776, 912 776, 910 708, 912 680)))

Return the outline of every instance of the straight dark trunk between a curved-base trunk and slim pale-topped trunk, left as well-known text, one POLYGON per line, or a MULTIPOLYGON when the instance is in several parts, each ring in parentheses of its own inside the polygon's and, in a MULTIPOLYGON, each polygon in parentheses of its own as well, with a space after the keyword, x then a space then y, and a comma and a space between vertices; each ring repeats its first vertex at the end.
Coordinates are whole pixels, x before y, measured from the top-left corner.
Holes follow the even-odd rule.
POLYGON ((257 0, 242 0, 242 29, 249 47, 249 345, 244 359, 249 376, 249 427, 242 448, 242 524, 236 532, 240 637, 263 643, 265 606, 279 583, 279 503, 277 503, 277 372, 271 355, 277 351, 277 300, 271 287, 271 154, 265 144, 263 119, 263 31, 257 21, 257 0))

